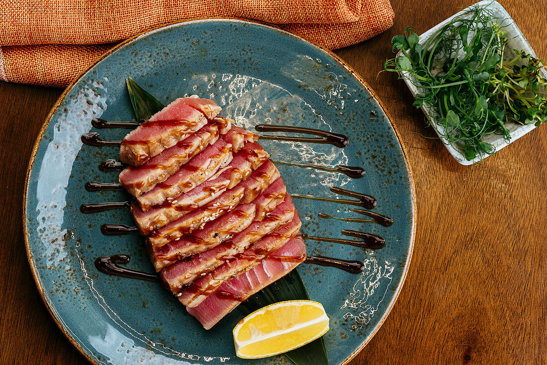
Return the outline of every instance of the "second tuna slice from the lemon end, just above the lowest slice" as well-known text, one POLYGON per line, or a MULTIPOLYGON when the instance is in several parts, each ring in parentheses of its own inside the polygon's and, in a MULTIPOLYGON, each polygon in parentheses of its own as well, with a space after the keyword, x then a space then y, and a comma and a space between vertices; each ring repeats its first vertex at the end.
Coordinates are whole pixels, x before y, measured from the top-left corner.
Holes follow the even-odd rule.
POLYGON ((225 280, 245 274, 247 271, 260 264, 261 260, 271 252, 283 246, 288 240, 299 236, 299 229, 302 225, 298 213, 288 224, 273 231, 264 238, 258 240, 247 250, 243 251, 236 258, 218 266, 205 276, 183 287, 178 295, 178 300, 185 306, 193 307, 199 305, 205 298, 213 293, 225 280))

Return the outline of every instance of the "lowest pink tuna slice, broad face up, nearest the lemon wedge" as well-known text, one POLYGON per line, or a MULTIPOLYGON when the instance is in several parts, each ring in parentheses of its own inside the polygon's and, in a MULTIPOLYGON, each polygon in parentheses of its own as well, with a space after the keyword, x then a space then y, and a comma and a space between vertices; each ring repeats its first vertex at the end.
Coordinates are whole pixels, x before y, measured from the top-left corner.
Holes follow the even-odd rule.
POLYGON ((306 259, 306 246, 301 238, 290 239, 247 273, 226 280, 214 294, 188 312, 210 329, 247 298, 287 275, 306 259))

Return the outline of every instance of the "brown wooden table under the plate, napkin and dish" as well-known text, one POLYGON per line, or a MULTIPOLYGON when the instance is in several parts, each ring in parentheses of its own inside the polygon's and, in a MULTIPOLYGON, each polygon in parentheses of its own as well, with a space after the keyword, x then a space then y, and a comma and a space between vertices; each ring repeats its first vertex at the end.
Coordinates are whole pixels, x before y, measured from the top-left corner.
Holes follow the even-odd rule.
MULTIPOLYGON (((336 51, 380 96, 414 175, 414 256, 386 322, 352 364, 532 364, 547 361, 547 129, 479 165, 462 166, 425 128, 406 86, 377 77, 391 38, 421 33, 470 2, 392 0, 395 24, 336 51)), ((547 59, 547 0, 502 1, 547 59)), ((0 83, 0 363, 85 364, 50 318, 27 263, 21 216, 34 140, 62 90, 0 83)))

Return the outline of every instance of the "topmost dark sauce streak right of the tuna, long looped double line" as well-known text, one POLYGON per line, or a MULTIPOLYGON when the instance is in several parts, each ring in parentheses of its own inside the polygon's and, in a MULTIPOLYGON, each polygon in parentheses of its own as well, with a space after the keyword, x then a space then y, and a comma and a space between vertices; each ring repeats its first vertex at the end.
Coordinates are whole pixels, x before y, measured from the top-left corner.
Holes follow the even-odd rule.
POLYGON ((276 140, 276 141, 295 141, 295 142, 310 142, 310 143, 323 143, 332 144, 333 146, 344 148, 347 146, 349 139, 347 136, 322 131, 319 129, 301 128, 290 125, 271 125, 271 124, 258 124, 254 127, 259 132, 295 132, 302 134, 311 134, 319 137, 287 137, 287 136, 260 136, 263 140, 276 140))

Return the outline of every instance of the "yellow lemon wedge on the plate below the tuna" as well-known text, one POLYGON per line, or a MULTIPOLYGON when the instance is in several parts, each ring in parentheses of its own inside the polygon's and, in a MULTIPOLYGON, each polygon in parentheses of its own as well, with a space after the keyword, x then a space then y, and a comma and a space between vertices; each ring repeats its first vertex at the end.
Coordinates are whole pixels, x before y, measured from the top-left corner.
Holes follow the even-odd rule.
POLYGON ((321 303, 287 300, 270 304, 243 318, 234 328, 236 355, 261 358, 283 354, 329 331, 321 303))

